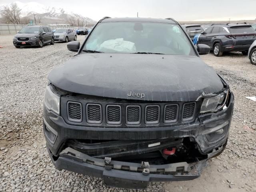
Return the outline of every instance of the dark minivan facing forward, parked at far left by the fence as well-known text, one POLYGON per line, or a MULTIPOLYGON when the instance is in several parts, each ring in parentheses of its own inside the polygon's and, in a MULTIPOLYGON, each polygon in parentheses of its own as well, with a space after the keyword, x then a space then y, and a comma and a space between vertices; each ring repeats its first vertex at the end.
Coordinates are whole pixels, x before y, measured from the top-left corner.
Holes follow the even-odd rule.
POLYGON ((52 29, 48 26, 26 26, 13 38, 16 48, 25 46, 43 47, 45 44, 54 44, 52 29))

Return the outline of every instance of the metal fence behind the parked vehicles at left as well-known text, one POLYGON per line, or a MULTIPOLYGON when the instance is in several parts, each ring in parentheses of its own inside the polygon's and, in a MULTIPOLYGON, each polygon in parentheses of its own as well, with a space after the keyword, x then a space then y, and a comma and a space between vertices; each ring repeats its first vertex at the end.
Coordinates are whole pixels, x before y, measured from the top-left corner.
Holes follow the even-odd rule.
MULTIPOLYGON (((27 25, 0 24, 0 35, 16 34, 24 26, 27 26, 27 25)), ((50 26, 50 28, 51 29, 57 29, 57 28, 74 29, 77 27, 74 27, 74 26, 50 26)))

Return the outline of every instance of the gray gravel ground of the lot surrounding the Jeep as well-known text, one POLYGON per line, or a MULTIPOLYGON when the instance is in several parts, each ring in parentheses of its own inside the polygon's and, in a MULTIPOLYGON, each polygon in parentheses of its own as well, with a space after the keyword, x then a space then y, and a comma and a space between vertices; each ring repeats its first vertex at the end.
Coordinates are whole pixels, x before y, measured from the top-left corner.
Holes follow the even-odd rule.
MULTIPOLYGON (((84 36, 78 36, 81 42, 84 36)), ((74 55, 65 43, 44 48, 12 46, 12 36, 0 36, 0 192, 1 191, 136 191, 104 186, 101 179, 58 171, 46 152, 42 103, 47 74, 74 55)), ((202 59, 230 84, 235 95, 227 149, 200 178, 187 182, 150 183, 147 190, 256 191, 256 66, 238 53, 212 54, 202 59)))

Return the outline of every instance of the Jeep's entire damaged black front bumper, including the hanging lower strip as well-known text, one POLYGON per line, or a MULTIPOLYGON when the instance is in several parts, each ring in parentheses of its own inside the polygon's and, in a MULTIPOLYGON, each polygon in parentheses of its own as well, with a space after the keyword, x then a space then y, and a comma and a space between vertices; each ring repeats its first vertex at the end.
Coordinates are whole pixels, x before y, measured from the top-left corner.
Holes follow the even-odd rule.
POLYGON ((220 112, 200 114, 190 124, 156 128, 70 125, 61 116, 44 108, 46 146, 52 162, 59 170, 100 177, 108 186, 146 188, 148 182, 193 180, 200 176, 208 158, 224 150, 233 108, 234 95, 231 93, 227 108, 220 112), (223 133, 212 140, 213 133, 222 128, 223 133), (84 140, 102 142, 85 144, 84 140), (109 144, 106 140, 110 141, 109 144), (145 164, 144 160, 142 164, 126 162, 130 156, 182 147, 185 140, 193 143, 204 158, 191 163, 186 160, 171 164, 145 164), (125 162, 116 160, 122 156, 125 156, 125 162))

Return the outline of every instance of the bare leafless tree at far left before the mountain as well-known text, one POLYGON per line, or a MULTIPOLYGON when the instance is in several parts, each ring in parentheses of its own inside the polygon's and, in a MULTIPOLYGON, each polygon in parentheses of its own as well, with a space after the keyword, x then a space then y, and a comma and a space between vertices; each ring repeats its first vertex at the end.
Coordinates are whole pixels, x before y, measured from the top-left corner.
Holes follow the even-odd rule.
POLYGON ((16 3, 12 3, 10 6, 4 6, 4 9, 1 11, 1 15, 5 18, 6 22, 13 24, 21 24, 20 13, 21 9, 18 8, 16 3))

